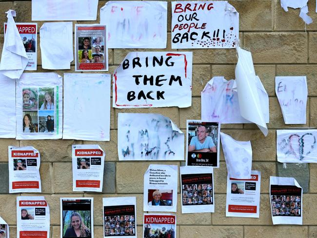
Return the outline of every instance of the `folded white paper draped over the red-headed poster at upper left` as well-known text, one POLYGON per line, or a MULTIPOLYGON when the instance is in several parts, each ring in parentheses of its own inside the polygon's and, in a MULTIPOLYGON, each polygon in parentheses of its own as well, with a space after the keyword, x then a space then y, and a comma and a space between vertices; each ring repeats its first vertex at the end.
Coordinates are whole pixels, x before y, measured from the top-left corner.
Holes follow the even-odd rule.
POLYGON ((20 79, 29 60, 27 59, 17 25, 13 19, 16 16, 16 11, 10 9, 6 14, 8 21, 6 33, 4 34, 0 74, 10 79, 20 79))

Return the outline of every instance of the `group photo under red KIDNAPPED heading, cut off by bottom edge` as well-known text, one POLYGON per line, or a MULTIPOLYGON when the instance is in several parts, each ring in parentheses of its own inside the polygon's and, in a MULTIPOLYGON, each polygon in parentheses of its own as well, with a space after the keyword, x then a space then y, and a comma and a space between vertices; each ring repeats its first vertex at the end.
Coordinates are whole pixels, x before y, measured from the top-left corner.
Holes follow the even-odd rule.
POLYGON ((175 238, 175 224, 144 224, 144 238, 165 237, 175 238))

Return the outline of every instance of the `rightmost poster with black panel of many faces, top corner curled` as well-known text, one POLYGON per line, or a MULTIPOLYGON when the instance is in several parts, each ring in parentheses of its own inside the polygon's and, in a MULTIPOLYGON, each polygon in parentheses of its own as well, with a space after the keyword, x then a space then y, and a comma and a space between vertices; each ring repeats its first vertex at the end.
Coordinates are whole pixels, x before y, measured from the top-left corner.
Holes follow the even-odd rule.
POLYGON ((277 224, 303 224, 303 189, 294 178, 270 176, 272 221, 277 224))

